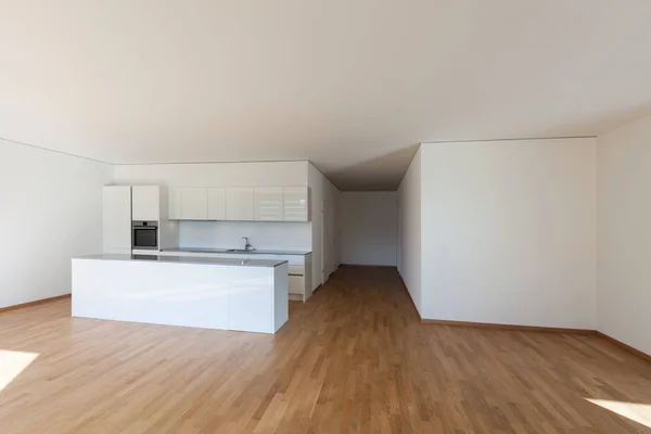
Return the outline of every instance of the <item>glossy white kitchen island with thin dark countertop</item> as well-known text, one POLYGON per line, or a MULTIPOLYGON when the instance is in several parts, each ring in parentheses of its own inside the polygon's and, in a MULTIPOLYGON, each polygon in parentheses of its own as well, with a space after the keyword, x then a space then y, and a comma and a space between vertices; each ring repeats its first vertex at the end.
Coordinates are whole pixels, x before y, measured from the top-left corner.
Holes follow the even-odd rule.
POLYGON ((286 321, 288 263, 156 255, 73 259, 73 316, 276 333, 286 321))

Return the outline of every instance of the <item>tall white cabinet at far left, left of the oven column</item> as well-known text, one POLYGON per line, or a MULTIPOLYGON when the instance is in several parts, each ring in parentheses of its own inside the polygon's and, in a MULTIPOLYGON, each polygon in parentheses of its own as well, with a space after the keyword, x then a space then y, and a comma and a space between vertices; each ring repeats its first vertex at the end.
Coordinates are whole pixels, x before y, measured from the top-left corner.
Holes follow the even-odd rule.
POLYGON ((102 195, 103 251, 130 254, 131 186, 106 186, 102 195))

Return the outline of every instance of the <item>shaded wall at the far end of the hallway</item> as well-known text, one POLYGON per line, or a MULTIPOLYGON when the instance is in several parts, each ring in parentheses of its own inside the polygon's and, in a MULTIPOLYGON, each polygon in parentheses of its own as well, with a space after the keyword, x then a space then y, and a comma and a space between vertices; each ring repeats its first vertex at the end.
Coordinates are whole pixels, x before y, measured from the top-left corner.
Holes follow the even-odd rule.
POLYGON ((342 192, 342 264, 395 266, 398 193, 342 192))

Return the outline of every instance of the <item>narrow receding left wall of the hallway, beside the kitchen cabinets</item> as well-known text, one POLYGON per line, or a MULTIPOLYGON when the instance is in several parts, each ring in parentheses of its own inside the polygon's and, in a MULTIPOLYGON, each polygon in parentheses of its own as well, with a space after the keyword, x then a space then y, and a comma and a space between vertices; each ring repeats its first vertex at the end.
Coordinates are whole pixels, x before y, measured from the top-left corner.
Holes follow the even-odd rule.
POLYGON ((328 280, 340 265, 337 206, 340 191, 315 166, 308 165, 311 192, 312 290, 328 280), (324 208, 323 208, 324 205, 324 208))

